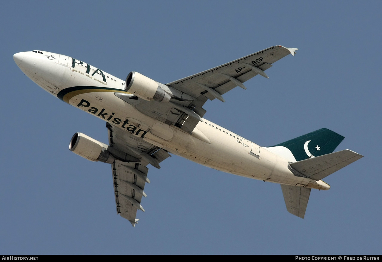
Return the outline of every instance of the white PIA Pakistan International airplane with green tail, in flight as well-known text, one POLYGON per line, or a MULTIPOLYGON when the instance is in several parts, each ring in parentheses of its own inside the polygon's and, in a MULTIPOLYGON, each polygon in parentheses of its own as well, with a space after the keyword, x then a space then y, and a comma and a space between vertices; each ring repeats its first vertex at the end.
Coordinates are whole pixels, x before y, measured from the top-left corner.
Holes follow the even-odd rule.
POLYGON ((58 99, 104 121, 108 144, 75 133, 69 149, 90 161, 111 164, 117 214, 138 223, 147 165, 170 156, 230 174, 281 185, 286 209, 304 218, 311 189, 328 190, 322 181, 362 158, 351 150, 334 152, 344 137, 329 129, 274 146, 259 146, 204 118, 207 100, 264 72, 296 48, 272 46, 166 85, 138 72, 121 80, 66 55, 33 50, 13 55, 32 81, 58 99))

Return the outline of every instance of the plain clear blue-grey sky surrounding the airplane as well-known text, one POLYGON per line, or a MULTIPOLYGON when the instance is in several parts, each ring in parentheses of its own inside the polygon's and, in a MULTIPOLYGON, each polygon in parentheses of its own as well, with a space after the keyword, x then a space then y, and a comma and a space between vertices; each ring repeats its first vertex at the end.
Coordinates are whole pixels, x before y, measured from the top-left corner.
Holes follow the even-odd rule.
POLYGON ((0 96, 2 254, 380 254, 382 4, 308 1, 3 2, 0 96), (205 118, 262 146, 322 127, 365 157, 312 190, 304 220, 278 184, 172 156, 139 224, 116 214, 110 165, 68 150, 75 132, 107 142, 105 123, 54 99, 16 52, 69 55, 125 79, 161 83, 274 45, 299 48, 205 104, 205 118))

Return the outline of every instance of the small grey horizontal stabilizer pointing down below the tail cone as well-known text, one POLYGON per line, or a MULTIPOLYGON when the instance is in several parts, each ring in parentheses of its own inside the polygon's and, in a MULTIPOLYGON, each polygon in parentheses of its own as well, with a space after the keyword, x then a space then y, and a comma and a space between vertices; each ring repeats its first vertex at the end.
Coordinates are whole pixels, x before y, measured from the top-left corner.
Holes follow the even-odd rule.
POLYGON ((286 210, 295 216, 304 218, 311 189, 288 185, 280 186, 281 190, 283 191, 286 210))

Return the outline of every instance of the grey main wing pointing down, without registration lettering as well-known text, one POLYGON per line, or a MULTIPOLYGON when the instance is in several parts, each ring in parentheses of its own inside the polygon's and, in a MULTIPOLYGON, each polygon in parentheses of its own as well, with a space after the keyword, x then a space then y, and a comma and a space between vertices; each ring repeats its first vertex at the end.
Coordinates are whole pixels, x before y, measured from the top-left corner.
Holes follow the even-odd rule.
MULTIPOLYGON (((144 208, 141 205, 142 197, 146 197, 143 189, 147 183, 149 169, 147 164, 159 167, 159 163, 170 155, 166 150, 158 148, 142 138, 131 135, 118 127, 107 124, 110 147, 127 155, 141 156, 141 162, 126 163, 115 160, 112 163, 115 204, 117 213, 135 226, 137 210, 144 208)), ((111 149, 112 150, 112 149, 111 149)))

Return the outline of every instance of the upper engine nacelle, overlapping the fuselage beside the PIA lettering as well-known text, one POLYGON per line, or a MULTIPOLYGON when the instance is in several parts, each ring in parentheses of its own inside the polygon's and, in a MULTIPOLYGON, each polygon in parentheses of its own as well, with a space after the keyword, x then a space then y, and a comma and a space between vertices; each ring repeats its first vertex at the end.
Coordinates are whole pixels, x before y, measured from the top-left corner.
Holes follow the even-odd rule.
POLYGON ((144 100, 156 100, 168 103, 171 96, 163 90, 157 82, 138 72, 130 72, 126 78, 124 88, 131 94, 144 100))

